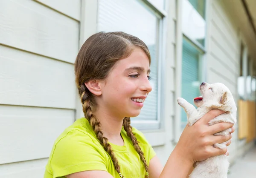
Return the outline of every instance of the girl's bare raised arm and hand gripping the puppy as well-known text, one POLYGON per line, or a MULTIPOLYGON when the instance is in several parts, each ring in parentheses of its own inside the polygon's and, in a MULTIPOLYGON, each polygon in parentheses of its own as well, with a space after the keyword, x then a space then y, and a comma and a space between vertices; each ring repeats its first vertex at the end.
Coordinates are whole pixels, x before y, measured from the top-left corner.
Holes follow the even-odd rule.
MULTIPOLYGON (((212 145, 230 140, 231 135, 213 134, 231 128, 233 124, 223 122, 209 126, 210 120, 223 113, 220 110, 211 110, 193 126, 186 126, 163 168, 156 156, 151 159, 148 168, 150 178, 186 178, 196 161, 225 154, 227 149, 214 148, 212 145)), ((227 146, 230 143, 231 140, 227 146)))

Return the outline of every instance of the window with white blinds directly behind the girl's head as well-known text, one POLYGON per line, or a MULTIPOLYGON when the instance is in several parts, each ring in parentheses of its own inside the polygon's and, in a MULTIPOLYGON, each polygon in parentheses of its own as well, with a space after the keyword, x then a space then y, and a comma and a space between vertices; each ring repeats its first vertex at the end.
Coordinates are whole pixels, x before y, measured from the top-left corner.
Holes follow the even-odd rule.
POLYGON ((123 31, 137 36, 145 42, 151 54, 150 82, 153 89, 145 100, 140 115, 132 118, 132 123, 136 124, 138 129, 156 129, 160 125, 161 24, 162 17, 141 0, 99 0, 97 31, 123 31))

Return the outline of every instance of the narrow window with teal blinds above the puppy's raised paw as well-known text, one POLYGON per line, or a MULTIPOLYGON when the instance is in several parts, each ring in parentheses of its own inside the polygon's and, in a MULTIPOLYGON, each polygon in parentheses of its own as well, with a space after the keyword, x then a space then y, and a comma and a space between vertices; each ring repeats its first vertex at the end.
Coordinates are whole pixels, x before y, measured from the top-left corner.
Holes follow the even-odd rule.
MULTIPOLYGON (((201 95, 199 85, 203 76, 205 0, 183 0, 182 7, 181 97, 194 105, 194 98, 201 95)), ((181 109, 181 128, 186 124, 186 112, 181 109)))

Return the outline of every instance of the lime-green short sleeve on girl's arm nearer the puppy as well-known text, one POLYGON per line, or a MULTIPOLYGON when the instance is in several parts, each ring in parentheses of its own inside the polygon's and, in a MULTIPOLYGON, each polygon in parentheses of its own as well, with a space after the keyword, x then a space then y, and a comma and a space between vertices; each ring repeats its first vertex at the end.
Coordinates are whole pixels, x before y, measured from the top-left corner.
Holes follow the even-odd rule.
POLYGON ((149 144, 148 140, 145 138, 142 132, 140 132, 136 128, 132 128, 132 132, 134 136, 137 138, 137 141, 142 149, 143 152, 147 152, 147 163, 156 155, 156 152, 152 148, 151 144, 149 144))

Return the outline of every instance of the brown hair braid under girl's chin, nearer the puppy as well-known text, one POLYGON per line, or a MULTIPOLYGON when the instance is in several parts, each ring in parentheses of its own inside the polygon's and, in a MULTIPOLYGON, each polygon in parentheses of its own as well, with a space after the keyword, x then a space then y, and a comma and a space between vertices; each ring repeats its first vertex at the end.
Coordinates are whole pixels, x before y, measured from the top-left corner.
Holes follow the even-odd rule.
POLYGON ((128 117, 125 117, 124 118, 124 121, 123 121, 123 126, 124 126, 124 129, 128 135, 128 137, 131 138, 131 141, 134 145, 134 148, 135 150, 137 151, 137 153, 140 155, 140 159, 143 161, 143 164, 145 166, 145 170, 146 170, 146 175, 147 177, 149 176, 148 174, 148 165, 147 165, 147 162, 145 160, 145 157, 144 157, 144 153, 143 151, 140 149, 140 146, 138 144, 138 141, 137 141, 137 138, 134 136, 134 134, 132 133, 132 127, 131 127, 131 119, 128 118, 128 117))

